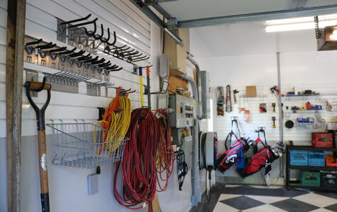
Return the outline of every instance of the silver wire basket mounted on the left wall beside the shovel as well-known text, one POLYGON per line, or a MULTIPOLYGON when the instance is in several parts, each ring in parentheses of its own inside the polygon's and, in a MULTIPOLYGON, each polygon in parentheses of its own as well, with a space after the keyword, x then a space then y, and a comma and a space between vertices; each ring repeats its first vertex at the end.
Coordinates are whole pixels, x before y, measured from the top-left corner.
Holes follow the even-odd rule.
POLYGON ((53 164, 92 169, 123 159, 125 136, 100 124, 46 124, 50 127, 53 164))

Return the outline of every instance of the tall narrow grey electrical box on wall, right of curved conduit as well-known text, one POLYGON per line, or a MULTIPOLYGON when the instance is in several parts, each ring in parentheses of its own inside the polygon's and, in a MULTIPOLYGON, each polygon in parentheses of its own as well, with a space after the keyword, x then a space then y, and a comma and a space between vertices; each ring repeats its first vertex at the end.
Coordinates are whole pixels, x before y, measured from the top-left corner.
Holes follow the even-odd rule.
POLYGON ((201 119, 209 119, 211 116, 211 88, 209 87, 209 73, 207 71, 200 71, 200 81, 202 102, 201 119))

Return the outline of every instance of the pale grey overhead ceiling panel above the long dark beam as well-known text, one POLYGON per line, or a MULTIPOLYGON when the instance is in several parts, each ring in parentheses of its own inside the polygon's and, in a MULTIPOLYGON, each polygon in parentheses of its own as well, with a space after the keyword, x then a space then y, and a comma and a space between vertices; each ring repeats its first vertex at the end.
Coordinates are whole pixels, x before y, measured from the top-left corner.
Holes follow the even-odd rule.
POLYGON ((160 3, 179 21, 337 4, 337 0, 175 0, 160 3))

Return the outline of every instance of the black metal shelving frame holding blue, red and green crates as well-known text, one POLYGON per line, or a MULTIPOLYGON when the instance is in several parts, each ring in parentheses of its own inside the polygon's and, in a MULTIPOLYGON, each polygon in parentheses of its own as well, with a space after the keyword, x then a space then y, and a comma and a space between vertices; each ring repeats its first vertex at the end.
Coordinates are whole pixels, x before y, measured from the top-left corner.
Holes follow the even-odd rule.
POLYGON ((302 150, 302 151, 330 151, 337 154, 337 148, 316 148, 312 146, 287 146, 287 166, 286 166, 286 187, 287 189, 318 189, 325 191, 337 191, 337 187, 308 187, 299 184, 298 182, 290 181, 290 170, 307 170, 307 171, 333 171, 337 172, 337 167, 316 167, 316 166, 304 166, 304 165, 290 165, 290 151, 302 150))

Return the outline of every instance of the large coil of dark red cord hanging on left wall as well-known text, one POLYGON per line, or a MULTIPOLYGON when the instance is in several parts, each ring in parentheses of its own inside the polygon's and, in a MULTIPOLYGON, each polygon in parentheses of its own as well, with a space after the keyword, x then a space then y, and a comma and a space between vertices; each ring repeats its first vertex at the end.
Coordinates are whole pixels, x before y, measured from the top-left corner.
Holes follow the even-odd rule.
MULTIPOLYGON (((158 125, 150 109, 138 108, 131 113, 128 131, 130 141, 126 143, 123 161, 116 163, 114 194, 116 201, 126 208, 137 210, 153 201, 157 187, 155 158, 158 125), (123 175, 123 194, 119 194, 116 179, 119 167, 123 175), (138 206, 138 204, 142 204, 138 206)), ((149 207, 149 209, 152 209, 149 207)))

